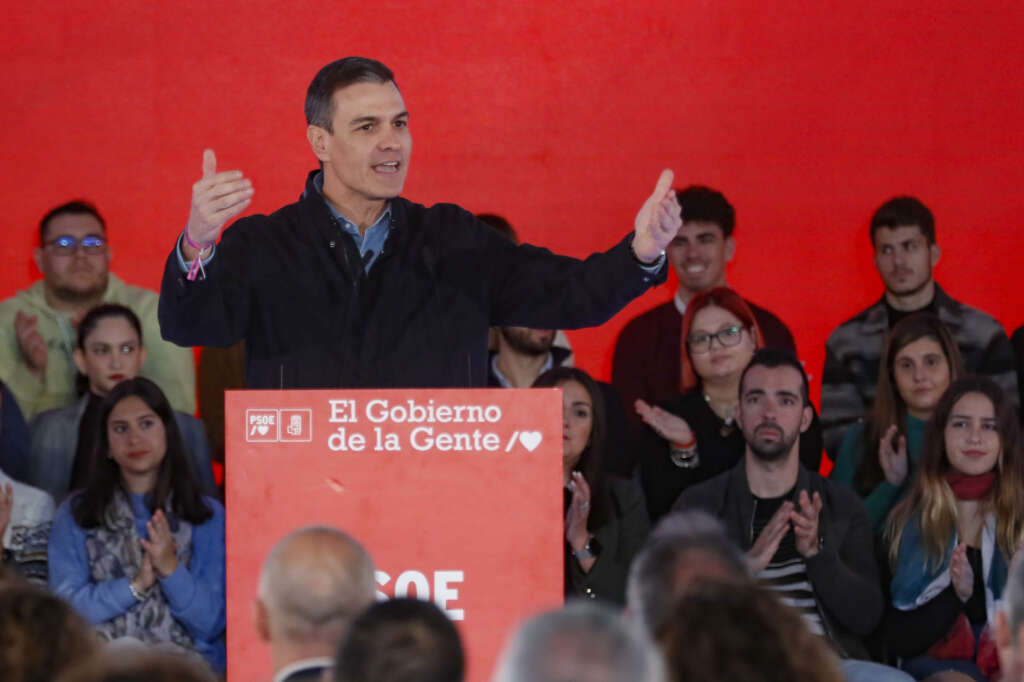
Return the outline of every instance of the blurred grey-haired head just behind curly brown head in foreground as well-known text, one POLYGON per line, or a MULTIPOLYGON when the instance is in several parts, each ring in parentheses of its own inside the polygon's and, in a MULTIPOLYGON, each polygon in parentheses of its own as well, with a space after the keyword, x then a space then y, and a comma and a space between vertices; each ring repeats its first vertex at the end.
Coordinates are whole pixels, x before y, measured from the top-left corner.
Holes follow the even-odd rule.
POLYGON ((702 511, 665 516, 630 566, 627 610, 653 637, 674 605, 701 581, 753 583, 746 557, 722 523, 702 511))

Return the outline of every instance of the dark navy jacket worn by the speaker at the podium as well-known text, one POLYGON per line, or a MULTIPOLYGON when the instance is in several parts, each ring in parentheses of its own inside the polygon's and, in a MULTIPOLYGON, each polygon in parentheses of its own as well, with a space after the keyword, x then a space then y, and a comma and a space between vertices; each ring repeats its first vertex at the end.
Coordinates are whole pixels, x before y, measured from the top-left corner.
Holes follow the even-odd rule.
POLYGON ((391 231, 369 272, 312 184, 227 228, 187 282, 172 251, 160 327, 179 345, 246 341, 249 388, 482 387, 492 325, 600 325, 665 280, 627 237, 578 260, 515 246, 468 211, 391 200, 391 231))

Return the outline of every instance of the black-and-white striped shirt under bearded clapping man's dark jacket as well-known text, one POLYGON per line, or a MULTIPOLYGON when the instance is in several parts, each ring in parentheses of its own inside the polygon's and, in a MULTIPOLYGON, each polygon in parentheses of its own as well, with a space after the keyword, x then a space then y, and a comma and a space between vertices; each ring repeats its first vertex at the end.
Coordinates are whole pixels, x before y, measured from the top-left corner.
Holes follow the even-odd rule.
MULTIPOLYGON (((796 487, 778 498, 754 498, 752 540, 757 540, 764 527, 768 525, 772 515, 786 500, 796 500, 796 487)), ((804 563, 804 557, 797 551, 797 537, 792 528, 779 543, 775 556, 758 573, 758 579, 775 590, 783 604, 800 611, 811 632, 822 637, 825 636, 824 624, 821 622, 818 602, 814 596, 814 588, 807 578, 807 565, 804 563)))

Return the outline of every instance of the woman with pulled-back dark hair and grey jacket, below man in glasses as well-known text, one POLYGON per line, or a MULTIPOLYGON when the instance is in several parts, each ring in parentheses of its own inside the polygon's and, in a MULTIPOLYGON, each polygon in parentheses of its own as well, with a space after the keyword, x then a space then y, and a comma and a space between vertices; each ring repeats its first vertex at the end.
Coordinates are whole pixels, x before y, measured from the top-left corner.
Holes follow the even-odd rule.
MULTIPOLYGON (((92 308, 78 326, 74 358, 88 385, 85 395, 73 406, 37 415, 31 424, 29 481, 57 502, 88 480, 93 465, 90 447, 103 428, 97 420, 103 396, 118 383, 137 377, 145 363, 146 348, 138 317, 130 308, 116 303, 92 308)), ((200 491, 216 496, 203 424, 183 412, 175 412, 174 421, 198 475, 200 491)))

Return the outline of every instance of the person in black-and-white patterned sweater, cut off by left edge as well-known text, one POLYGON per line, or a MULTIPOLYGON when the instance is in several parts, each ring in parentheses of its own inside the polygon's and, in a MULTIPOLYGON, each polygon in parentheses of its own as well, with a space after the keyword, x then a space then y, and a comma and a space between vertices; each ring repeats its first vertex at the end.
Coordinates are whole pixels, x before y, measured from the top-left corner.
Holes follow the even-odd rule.
POLYGON ((0 469, 3 565, 40 587, 47 584, 46 548, 53 512, 50 496, 11 479, 0 469))

